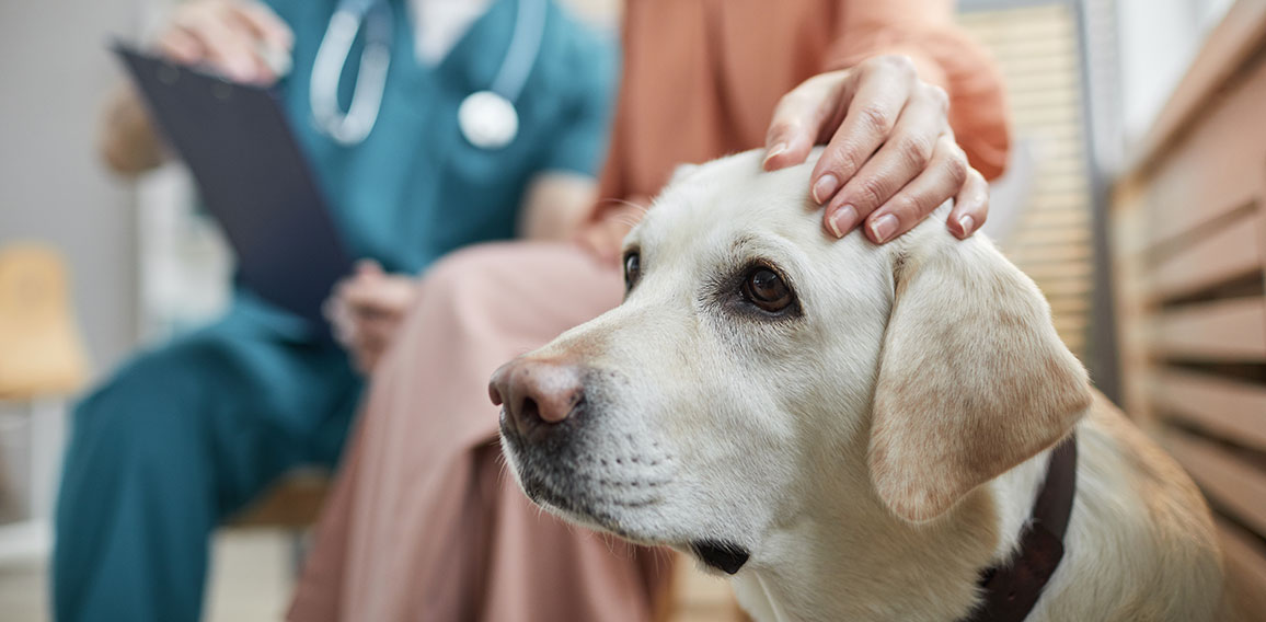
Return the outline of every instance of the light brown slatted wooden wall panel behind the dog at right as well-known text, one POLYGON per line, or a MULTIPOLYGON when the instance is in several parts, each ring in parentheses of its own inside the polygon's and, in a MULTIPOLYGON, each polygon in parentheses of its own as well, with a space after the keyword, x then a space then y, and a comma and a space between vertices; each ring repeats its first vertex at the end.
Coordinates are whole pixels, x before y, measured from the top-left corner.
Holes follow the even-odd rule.
POLYGON ((1127 412, 1219 521, 1239 619, 1266 619, 1266 1, 1239 0, 1117 185, 1127 412))

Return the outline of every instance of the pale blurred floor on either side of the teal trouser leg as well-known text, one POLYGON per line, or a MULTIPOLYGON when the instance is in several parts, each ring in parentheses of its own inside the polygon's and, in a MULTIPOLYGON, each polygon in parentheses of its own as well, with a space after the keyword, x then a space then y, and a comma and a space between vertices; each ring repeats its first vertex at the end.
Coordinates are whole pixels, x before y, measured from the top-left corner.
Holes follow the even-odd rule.
MULTIPOLYGON (((294 585, 294 549, 286 532, 235 530, 215 541, 208 622, 271 622, 285 614, 294 585)), ((51 619, 42 564, 0 565, 5 622, 51 619)))

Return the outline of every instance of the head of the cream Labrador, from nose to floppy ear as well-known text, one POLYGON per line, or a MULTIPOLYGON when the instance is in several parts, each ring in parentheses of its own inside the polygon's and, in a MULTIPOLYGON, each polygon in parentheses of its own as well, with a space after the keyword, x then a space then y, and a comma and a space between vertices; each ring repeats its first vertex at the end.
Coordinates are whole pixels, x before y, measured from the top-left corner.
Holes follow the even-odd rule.
POLYGON ((812 162, 760 166, 679 176, 625 241, 625 301, 494 376, 533 500, 734 573, 818 499, 932 521, 1071 429, 1085 372, 989 241, 946 208, 836 241, 812 162))

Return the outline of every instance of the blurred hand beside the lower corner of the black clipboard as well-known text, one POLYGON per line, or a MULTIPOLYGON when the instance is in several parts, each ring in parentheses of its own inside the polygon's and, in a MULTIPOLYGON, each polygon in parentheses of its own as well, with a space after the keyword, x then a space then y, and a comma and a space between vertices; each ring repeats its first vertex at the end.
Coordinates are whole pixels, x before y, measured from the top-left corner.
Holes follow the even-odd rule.
POLYGON ((334 286, 325 301, 325 317, 334 338, 362 374, 373 371, 417 296, 417 280, 386 274, 368 260, 358 262, 356 272, 334 286))

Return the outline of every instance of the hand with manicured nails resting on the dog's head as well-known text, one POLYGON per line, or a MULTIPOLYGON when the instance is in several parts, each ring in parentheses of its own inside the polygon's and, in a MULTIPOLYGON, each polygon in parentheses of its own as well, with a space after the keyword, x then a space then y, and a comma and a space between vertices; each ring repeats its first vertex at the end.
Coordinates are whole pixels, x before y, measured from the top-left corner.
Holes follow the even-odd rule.
POLYGON ((810 195, 827 206, 832 234, 865 222, 866 237, 887 242, 955 199, 948 227, 965 238, 989 214, 989 185, 955 142, 948 111, 946 91, 920 80, 908 57, 877 56, 787 92, 766 134, 765 168, 803 163, 824 142, 810 195))

